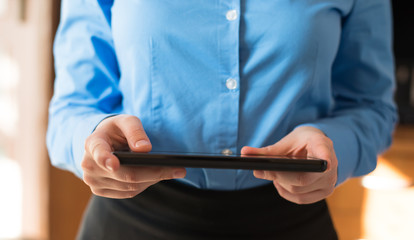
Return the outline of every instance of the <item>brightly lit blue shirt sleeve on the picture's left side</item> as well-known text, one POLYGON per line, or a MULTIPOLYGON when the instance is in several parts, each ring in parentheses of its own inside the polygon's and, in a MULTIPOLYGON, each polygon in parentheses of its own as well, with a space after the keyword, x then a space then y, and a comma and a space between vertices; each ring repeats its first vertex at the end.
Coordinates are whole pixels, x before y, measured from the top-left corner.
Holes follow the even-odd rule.
POLYGON ((121 112, 111 4, 63 0, 54 43, 56 79, 46 141, 52 164, 79 177, 86 138, 104 118, 121 112))

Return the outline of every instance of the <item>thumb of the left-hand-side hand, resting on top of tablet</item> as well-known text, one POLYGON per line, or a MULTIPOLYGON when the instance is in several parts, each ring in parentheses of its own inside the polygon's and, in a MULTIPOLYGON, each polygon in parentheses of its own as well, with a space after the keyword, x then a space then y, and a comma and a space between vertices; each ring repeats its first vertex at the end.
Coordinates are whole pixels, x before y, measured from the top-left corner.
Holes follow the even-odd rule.
POLYGON ((151 142, 145 133, 141 120, 134 116, 126 116, 117 120, 117 126, 125 136, 129 148, 134 152, 151 151, 151 142))

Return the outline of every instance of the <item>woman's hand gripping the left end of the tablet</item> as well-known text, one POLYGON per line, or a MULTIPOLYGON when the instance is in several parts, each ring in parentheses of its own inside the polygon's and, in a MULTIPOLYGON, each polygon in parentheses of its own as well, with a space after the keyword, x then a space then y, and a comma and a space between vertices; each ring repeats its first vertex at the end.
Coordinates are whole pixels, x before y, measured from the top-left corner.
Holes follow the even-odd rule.
POLYGON ((85 142, 83 181, 95 195, 131 198, 149 186, 167 179, 183 178, 185 168, 121 166, 114 150, 149 152, 152 145, 141 121, 131 115, 103 120, 85 142))

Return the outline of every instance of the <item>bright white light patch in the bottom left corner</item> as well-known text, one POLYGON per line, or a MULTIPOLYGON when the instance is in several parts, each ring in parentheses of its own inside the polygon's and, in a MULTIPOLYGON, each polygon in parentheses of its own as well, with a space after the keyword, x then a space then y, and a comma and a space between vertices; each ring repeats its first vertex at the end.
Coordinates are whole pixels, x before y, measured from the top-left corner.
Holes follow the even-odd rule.
POLYGON ((0 239, 21 234, 22 181, 19 165, 0 156, 0 239))

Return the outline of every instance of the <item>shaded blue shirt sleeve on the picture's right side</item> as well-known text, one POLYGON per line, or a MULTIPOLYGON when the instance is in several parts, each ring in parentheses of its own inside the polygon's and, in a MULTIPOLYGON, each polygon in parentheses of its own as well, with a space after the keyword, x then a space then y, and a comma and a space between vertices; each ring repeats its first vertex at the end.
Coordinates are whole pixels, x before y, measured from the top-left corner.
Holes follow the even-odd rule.
POLYGON ((332 68, 333 110, 311 126, 334 143, 337 185, 374 170, 397 121, 388 0, 356 0, 332 68))

